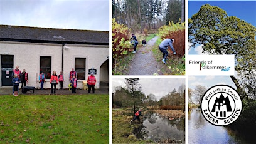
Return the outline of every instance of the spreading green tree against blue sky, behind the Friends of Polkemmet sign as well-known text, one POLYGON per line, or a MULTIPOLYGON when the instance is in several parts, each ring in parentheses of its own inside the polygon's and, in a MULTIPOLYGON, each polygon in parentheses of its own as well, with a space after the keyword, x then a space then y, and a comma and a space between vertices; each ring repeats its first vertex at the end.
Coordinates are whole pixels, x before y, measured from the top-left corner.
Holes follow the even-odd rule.
POLYGON ((217 6, 205 4, 188 23, 191 47, 203 44, 203 53, 234 54, 235 71, 242 80, 230 76, 242 98, 255 98, 252 86, 256 70, 256 28, 217 6))

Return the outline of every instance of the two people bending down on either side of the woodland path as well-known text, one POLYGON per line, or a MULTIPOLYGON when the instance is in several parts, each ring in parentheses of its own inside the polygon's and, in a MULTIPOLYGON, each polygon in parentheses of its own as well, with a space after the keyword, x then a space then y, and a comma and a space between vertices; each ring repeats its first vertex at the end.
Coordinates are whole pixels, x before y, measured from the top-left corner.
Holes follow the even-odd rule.
MULTIPOLYGON (((131 44, 134 46, 134 51, 132 51, 132 53, 136 53, 136 47, 138 45, 138 41, 137 38, 134 34, 132 34, 132 37, 130 39, 131 44)), ((164 64, 166 64, 166 60, 167 60, 167 56, 168 56, 168 46, 171 48, 171 50, 173 51, 173 54, 176 54, 176 51, 173 47, 173 43, 174 43, 174 39, 164 39, 160 44, 159 44, 159 50, 163 53, 163 59, 162 62, 164 64)), ((146 45, 146 41, 142 41, 142 44, 146 45)))

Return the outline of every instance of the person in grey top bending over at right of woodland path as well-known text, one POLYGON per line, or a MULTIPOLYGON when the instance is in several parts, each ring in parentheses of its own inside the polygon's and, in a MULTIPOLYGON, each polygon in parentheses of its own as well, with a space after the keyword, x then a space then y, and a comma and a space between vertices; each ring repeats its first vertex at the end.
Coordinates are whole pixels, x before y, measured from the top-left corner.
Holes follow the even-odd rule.
POLYGON ((171 47, 171 50, 173 51, 173 54, 176 54, 175 49, 173 48, 173 43, 174 39, 164 39, 160 44, 159 44, 159 50, 163 53, 163 59, 162 62, 166 64, 166 59, 168 56, 168 46, 171 47))

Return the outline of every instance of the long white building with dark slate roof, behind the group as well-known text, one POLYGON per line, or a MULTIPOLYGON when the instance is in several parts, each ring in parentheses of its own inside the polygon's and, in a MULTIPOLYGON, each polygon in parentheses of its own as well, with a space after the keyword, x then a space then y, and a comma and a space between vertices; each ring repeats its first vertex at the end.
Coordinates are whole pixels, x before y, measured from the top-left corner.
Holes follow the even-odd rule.
POLYGON ((100 88, 109 83, 109 31, 0 25, 0 63, 1 87, 12 85, 11 74, 18 65, 28 73, 27 86, 39 88, 43 71, 48 75, 44 88, 50 88, 52 72, 63 71, 64 88, 68 88, 68 75, 75 68, 78 88, 83 88, 90 69, 96 72, 95 88, 100 88))

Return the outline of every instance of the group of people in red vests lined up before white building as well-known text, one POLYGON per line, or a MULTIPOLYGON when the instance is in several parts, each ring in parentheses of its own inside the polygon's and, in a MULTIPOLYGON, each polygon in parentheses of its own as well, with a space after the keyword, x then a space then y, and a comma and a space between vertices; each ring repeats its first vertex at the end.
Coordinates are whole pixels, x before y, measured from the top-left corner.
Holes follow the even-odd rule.
MULTIPOLYGON (((26 73, 26 70, 23 69, 23 72, 19 70, 19 66, 16 66, 16 68, 13 70, 12 73, 13 79, 13 95, 18 96, 19 93, 19 83, 21 83, 21 89, 23 89, 23 86, 26 86, 28 83, 28 73, 26 73)), ((46 80, 46 75, 43 73, 43 71, 40 73, 38 76, 38 81, 41 83, 41 90, 43 90, 43 85, 46 80)), ((70 86, 72 89, 72 93, 76 93, 77 89, 77 72, 75 71, 74 68, 72 68, 72 71, 70 71, 69 74, 69 81, 70 81, 70 86)), ((59 75, 56 75, 56 71, 53 71, 51 77, 50 77, 50 83, 51 83, 51 94, 56 93, 56 85, 58 83, 60 84, 60 90, 63 89, 63 82, 64 82, 64 75, 62 71, 60 71, 59 75)), ((95 84, 96 84, 96 78, 93 75, 93 73, 90 73, 90 76, 87 78, 87 86, 88 86, 88 93, 91 92, 95 93, 95 84)))

